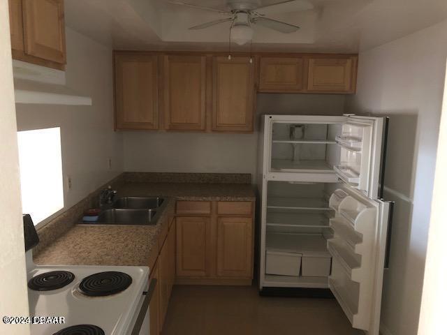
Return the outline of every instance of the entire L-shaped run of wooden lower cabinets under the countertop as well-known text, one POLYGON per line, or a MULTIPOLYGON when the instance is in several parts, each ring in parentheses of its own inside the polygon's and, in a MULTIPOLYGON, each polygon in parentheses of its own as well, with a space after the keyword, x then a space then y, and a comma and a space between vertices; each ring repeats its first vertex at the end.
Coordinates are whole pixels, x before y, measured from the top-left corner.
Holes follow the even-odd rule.
POLYGON ((152 258, 151 335, 161 334, 174 283, 251 285, 253 209, 253 202, 177 202, 182 216, 162 227, 152 258))

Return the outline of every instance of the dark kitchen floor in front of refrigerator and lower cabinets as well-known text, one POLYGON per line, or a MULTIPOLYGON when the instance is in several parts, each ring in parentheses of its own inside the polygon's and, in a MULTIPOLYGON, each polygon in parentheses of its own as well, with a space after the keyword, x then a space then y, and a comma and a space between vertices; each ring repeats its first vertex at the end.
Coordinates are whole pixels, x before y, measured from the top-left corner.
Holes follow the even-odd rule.
POLYGON ((354 335, 335 299, 260 297, 256 287, 175 286, 163 335, 354 335))

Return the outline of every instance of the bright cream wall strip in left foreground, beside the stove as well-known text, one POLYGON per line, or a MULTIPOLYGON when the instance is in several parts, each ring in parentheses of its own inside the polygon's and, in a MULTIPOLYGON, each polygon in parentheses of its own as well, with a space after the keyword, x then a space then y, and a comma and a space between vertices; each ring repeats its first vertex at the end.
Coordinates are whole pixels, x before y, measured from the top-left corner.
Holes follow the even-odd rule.
MULTIPOLYGON (((0 1, 0 316, 28 315, 19 158, 15 126, 8 1, 0 1)), ((0 334, 28 335, 28 325, 5 325, 0 334)))

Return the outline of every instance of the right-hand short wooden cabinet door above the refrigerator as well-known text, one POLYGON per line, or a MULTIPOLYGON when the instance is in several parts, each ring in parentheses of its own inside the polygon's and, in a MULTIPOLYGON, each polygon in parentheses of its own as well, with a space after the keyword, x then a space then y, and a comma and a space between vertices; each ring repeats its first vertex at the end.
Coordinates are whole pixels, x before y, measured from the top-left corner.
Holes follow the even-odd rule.
POLYGON ((350 94, 356 91, 357 57, 311 58, 307 90, 350 94))

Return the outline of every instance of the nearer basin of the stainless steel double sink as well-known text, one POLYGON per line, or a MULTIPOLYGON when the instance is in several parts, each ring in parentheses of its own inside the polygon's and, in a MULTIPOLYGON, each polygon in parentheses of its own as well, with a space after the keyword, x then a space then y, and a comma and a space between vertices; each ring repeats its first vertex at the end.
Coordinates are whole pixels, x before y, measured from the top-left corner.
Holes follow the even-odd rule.
POLYGON ((155 209, 106 209, 95 225, 155 225, 159 215, 155 209))

